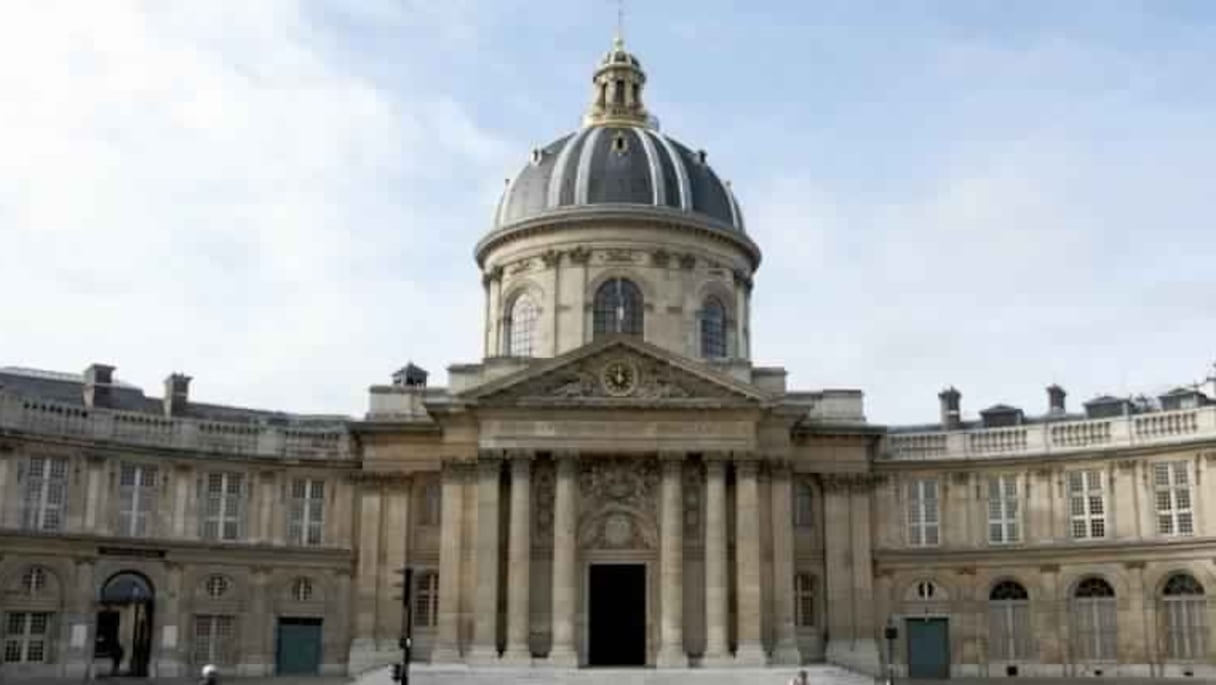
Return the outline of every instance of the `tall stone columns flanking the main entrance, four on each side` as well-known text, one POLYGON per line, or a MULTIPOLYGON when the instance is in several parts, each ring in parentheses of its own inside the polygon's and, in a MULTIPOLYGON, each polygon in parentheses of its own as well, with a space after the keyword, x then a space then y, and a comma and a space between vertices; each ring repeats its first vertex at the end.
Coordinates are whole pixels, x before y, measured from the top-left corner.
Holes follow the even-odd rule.
MULTIPOLYGON (((443 520, 439 554, 439 623, 432 661, 472 664, 579 664, 576 645, 576 612, 579 597, 578 561, 578 498, 579 454, 553 454, 553 544, 552 596, 550 634, 552 642, 546 655, 533 655, 529 645, 531 546, 533 546, 533 465, 535 454, 524 450, 483 451, 472 472, 475 475, 475 529, 471 539, 474 568, 473 627, 467 650, 461 650, 461 501, 468 465, 447 465, 443 471, 443 520), (500 588, 500 478, 503 461, 510 467, 510 502, 506 586, 500 588), (499 593, 506 593, 506 640, 499 652, 499 593)), ((658 645, 655 663, 660 668, 687 668, 683 611, 685 584, 685 524, 682 470, 687 454, 662 453, 658 501, 658 574, 659 585, 658 645)), ((592 457, 593 459, 593 457, 592 457)), ((771 507, 771 521, 790 521, 790 471, 788 465, 767 461, 771 478, 769 501, 760 499, 759 473, 761 460, 750 454, 711 453, 704 455, 704 551, 705 583, 705 650, 702 663, 706 666, 762 666, 765 663, 798 663, 794 616, 793 530, 789 523, 772 526, 772 578, 765 578, 761 563, 761 507, 771 507), (728 554, 727 470, 734 468, 734 541, 733 557, 728 554), (730 565, 734 565, 734 588, 728 585, 730 565), (761 586, 772 584, 771 607, 764 606, 761 586), (728 621, 728 601, 736 600, 733 631, 728 621), (762 619, 769 614, 773 627, 771 653, 762 641, 762 619), (733 633, 736 646, 730 650, 733 633)))

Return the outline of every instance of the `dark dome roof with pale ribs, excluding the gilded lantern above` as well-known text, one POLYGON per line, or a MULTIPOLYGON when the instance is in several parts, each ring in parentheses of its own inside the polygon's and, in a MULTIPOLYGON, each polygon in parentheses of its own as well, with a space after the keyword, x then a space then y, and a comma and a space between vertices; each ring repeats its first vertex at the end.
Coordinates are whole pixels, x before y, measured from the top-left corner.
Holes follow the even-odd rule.
POLYGON ((744 232, 738 202, 704 152, 635 125, 592 125, 534 150, 508 181, 494 228, 596 204, 662 207, 744 232))

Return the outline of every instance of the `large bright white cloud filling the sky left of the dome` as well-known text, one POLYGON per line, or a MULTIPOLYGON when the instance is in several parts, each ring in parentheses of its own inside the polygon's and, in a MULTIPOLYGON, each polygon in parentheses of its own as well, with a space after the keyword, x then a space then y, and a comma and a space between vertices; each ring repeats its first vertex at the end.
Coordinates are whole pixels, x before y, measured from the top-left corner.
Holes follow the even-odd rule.
POLYGON ((473 270, 449 292, 420 246, 488 214, 433 189, 492 176, 508 146, 441 90, 345 68, 323 30, 280 0, 10 11, 0 270, 21 296, 0 358, 359 411, 406 349, 475 350, 473 270))

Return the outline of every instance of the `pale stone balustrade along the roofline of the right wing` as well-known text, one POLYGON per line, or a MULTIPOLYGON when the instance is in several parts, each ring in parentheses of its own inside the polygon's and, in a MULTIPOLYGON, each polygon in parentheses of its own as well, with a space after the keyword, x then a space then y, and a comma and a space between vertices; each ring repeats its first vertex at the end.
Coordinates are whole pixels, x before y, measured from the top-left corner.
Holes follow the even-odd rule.
POLYGON ((1205 438, 1216 440, 1216 406, 1007 428, 893 432, 883 455, 903 461, 1035 456, 1205 438))

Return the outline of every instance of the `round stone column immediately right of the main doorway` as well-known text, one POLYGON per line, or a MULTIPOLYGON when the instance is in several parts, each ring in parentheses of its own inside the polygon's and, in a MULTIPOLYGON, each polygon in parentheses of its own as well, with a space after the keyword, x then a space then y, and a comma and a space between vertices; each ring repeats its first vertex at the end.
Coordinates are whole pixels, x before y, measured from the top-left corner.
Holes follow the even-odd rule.
POLYGON ((659 524, 659 668, 687 668, 683 648, 683 454, 659 455, 663 465, 659 524))

